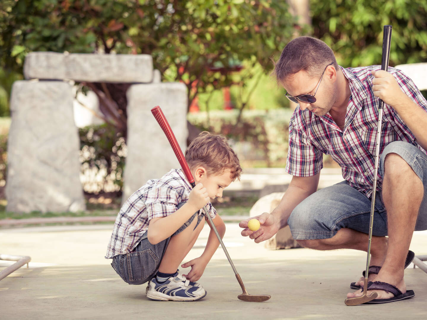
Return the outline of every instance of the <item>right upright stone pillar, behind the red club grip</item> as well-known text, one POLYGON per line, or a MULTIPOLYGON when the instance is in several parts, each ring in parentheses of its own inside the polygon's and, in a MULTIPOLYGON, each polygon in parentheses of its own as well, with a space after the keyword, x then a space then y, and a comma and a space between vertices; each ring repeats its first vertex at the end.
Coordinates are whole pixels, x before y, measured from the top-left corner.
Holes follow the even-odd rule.
POLYGON ((123 199, 149 179, 180 168, 169 141, 151 113, 159 105, 182 152, 187 148, 187 87, 183 83, 134 84, 127 92, 128 137, 123 199))

